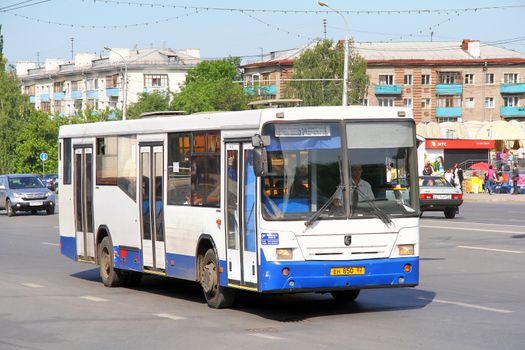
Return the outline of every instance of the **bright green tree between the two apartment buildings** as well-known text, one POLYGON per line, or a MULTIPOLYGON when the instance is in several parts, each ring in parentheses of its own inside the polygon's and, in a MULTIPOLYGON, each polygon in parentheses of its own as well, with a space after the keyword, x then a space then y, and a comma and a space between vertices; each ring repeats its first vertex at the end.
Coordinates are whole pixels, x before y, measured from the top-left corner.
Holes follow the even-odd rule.
POLYGON ((247 108, 240 80, 240 59, 203 61, 190 69, 181 92, 174 95, 171 108, 188 113, 238 111, 247 108))

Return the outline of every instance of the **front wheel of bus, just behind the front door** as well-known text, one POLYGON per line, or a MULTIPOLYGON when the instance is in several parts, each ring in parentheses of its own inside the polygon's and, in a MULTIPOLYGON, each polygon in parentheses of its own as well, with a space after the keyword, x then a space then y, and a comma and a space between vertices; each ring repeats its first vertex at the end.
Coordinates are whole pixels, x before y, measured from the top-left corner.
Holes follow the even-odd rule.
POLYGON ((209 307, 222 309, 233 304, 235 290, 219 285, 219 263, 213 249, 208 249, 201 258, 199 274, 199 281, 209 307))

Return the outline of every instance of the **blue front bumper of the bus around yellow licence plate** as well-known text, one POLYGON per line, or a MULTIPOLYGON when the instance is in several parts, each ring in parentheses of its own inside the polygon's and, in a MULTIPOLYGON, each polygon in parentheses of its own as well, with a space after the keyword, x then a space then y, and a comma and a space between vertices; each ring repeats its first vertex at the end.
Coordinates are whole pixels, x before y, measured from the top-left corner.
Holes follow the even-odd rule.
POLYGON ((352 261, 266 261, 261 250, 259 276, 261 292, 374 286, 403 287, 419 283, 419 257, 352 261), (405 264, 412 265, 412 270, 408 273, 403 271, 405 264), (365 275, 330 276, 331 267, 352 266, 364 266, 365 275), (286 277, 281 274, 284 267, 290 269, 290 274, 286 277), (403 278, 402 283, 399 281, 400 277, 403 278), (293 283, 290 283, 291 281, 293 283))

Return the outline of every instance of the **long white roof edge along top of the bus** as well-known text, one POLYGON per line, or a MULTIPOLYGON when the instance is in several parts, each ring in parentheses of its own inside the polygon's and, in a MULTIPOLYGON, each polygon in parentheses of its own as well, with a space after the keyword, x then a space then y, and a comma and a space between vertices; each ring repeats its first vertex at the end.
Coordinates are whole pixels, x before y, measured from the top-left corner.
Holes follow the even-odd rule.
POLYGON ((63 125, 59 138, 94 137, 125 134, 154 134, 194 130, 259 130, 271 121, 297 120, 412 120, 412 110, 401 107, 327 106, 291 107, 245 110, 238 112, 208 112, 190 115, 155 113, 144 119, 120 120, 63 125))

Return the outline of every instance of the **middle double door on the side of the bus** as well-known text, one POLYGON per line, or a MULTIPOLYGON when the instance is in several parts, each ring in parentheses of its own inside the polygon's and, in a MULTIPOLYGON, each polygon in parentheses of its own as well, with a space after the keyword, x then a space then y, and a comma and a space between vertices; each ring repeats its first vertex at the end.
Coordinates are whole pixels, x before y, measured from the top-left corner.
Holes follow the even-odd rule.
POLYGON ((145 269, 166 268, 162 144, 140 145, 142 259, 145 269))

